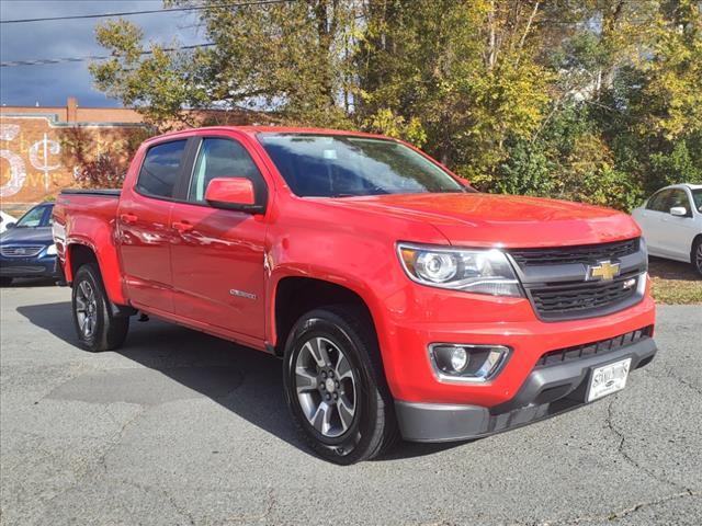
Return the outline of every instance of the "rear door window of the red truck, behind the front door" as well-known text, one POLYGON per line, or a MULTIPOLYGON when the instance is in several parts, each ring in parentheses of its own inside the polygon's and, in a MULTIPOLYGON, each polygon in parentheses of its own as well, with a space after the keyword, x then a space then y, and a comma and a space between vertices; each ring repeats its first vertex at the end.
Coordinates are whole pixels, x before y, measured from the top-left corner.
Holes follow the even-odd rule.
POLYGON ((172 198, 186 139, 152 146, 146 152, 136 188, 151 197, 172 198))

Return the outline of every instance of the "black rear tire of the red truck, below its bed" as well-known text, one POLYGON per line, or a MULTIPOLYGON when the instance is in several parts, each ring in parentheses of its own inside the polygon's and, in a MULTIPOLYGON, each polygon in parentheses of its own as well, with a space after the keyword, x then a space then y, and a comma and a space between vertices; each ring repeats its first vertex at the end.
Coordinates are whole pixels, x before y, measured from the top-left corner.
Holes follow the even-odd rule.
POLYGON ((129 330, 129 318, 127 316, 112 315, 110 299, 105 294, 100 271, 93 263, 86 263, 76 273, 72 283, 71 307, 73 327, 81 347, 99 353, 112 351, 124 343, 129 330), (83 290, 91 290, 94 295, 94 305, 90 309, 89 331, 86 330, 84 325, 87 311, 86 301, 81 299, 84 294, 83 290))

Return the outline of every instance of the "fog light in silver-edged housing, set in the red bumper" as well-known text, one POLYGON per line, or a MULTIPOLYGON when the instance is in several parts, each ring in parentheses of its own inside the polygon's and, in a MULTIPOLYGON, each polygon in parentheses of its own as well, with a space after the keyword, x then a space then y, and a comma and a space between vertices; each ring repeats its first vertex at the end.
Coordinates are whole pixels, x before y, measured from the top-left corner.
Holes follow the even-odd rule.
POLYGON ((500 371, 508 355, 509 348, 503 345, 429 345, 434 374, 439 380, 446 381, 488 381, 500 371))

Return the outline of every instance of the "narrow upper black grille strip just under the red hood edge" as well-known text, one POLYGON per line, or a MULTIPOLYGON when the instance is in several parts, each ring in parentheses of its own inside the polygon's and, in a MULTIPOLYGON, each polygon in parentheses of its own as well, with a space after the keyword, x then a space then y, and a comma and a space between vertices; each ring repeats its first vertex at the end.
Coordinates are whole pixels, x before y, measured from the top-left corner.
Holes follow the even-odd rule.
POLYGON ((517 249, 510 255, 521 267, 535 265, 564 265, 597 261, 615 260, 638 251, 638 238, 602 244, 581 244, 555 249, 517 249))

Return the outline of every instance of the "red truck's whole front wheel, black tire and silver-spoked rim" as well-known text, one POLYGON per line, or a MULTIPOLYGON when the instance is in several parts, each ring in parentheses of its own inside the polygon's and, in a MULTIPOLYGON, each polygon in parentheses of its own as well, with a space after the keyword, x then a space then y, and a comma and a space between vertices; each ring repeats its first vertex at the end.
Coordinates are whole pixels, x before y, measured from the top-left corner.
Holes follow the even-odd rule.
POLYGON ((285 345, 285 399, 320 457, 340 465, 371 459, 398 436, 373 322, 353 306, 303 316, 285 345))

